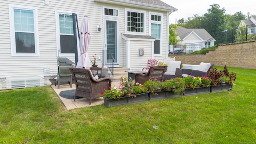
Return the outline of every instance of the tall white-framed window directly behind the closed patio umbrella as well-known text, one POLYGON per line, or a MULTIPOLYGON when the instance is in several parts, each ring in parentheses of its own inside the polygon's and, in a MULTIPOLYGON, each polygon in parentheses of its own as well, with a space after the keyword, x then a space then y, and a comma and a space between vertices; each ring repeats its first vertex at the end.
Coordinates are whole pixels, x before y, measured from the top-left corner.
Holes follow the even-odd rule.
POLYGON ((59 56, 74 56, 72 12, 56 11, 56 32, 59 56))

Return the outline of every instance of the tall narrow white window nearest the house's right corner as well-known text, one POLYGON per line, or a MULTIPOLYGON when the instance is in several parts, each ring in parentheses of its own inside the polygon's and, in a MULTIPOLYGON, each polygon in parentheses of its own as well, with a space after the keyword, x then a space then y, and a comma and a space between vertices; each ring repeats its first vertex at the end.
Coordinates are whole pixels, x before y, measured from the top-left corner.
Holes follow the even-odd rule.
POLYGON ((154 54, 161 54, 162 14, 150 13, 150 34, 155 38, 154 54))

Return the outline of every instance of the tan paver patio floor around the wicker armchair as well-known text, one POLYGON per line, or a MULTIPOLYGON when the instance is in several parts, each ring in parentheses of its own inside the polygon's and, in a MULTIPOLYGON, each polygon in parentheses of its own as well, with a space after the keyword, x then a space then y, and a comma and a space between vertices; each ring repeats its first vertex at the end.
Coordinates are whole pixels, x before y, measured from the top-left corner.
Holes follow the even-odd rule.
MULTIPOLYGON (((119 82, 112 82, 111 86, 118 87, 118 84, 119 84, 119 82)), ((58 97, 60 98, 62 103, 64 104, 64 106, 67 108, 67 110, 70 110, 73 108, 82 108, 85 106, 96 106, 96 105, 100 105, 100 104, 104 103, 103 97, 92 99, 91 105, 89 105, 90 100, 87 98, 79 98, 79 99, 76 99, 76 101, 74 102, 74 99, 67 99, 67 98, 61 97, 60 92, 65 91, 65 90, 76 89, 75 84, 72 84, 72 88, 70 88, 70 85, 68 85, 68 84, 60 85, 59 89, 57 89, 57 87, 58 86, 52 85, 52 88, 54 89, 54 91, 56 92, 56 94, 58 95, 58 97)))

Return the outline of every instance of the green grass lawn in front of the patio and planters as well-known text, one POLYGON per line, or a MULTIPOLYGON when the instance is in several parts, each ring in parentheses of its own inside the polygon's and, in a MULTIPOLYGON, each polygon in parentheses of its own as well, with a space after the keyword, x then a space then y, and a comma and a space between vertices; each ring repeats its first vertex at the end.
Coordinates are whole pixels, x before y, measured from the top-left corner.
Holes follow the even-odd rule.
POLYGON ((256 70, 228 70, 237 75, 230 91, 112 108, 66 110, 50 86, 3 90, 0 143, 255 143, 256 70))

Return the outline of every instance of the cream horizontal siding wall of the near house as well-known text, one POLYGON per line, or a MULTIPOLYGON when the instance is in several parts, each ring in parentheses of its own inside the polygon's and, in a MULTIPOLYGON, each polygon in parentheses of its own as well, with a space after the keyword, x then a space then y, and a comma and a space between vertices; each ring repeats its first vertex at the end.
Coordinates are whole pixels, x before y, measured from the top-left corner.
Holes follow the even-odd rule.
MULTIPOLYGON (((94 0, 50 0, 49 5, 44 4, 44 0, 0 0, 0 79, 8 78, 10 76, 30 76, 37 75, 42 77, 55 77, 57 75, 57 57, 59 44, 57 44, 58 35, 56 34, 56 11, 74 12, 78 14, 78 26, 80 29, 81 21, 84 15, 88 16, 90 26, 91 42, 88 49, 89 58, 95 53, 97 56, 102 57, 102 50, 104 49, 104 18, 103 7, 118 8, 119 16, 114 18, 118 20, 118 48, 119 48, 119 67, 127 66, 126 48, 127 42, 122 39, 122 33, 125 33, 125 7, 113 4, 94 2, 94 0), (39 34, 39 54, 40 56, 26 57, 26 56, 12 56, 11 54, 11 41, 10 41, 10 28, 9 20, 9 4, 32 6, 38 10, 38 34, 39 34), (102 32, 97 32, 97 26, 101 26, 102 32), (44 69, 49 69, 49 73, 44 69)), ((138 8, 133 8, 138 9, 138 8)), ((145 9, 144 9, 145 10, 145 9)), ((152 10, 146 10, 146 35, 149 35, 149 12, 152 10)), ((159 11, 155 11, 159 12, 159 11)), ((161 12, 159 12, 161 13, 161 12)), ((160 56, 155 56, 156 59, 166 57, 167 53, 167 41, 166 41, 166 27, 167 27, 167 12, 162 12, 163 24, 162 24, 162 53, 160 56)), ((108 17, 112 18, 112 17, 108 17)), ((148 59, 152 58, 152 45, 151 42, 131 42, 131 60, 138 58, 138 48, 145 48, 145 55, 140 60, 142 65, 146 65, 148 59), (134 53, 133 53, 134 52, 134 53)), ((78 50, 78 56, 79 56, 78 50)), ((63 56, 62 56, 63 57, 63 56)), ((74 55, 64 56, 75 62, 74 55)), ((154 56, 153 56, 154 57, 154 56)), ((141 58, 141 57, 139 57, 141 58)), ((131 61, 133 62, 133 61, 131 61)), ((100 60, 97 58, 98 65, 100 60)), ((138 69, 140 63, 134 62, 131 65, 131 70, 138 69)))

